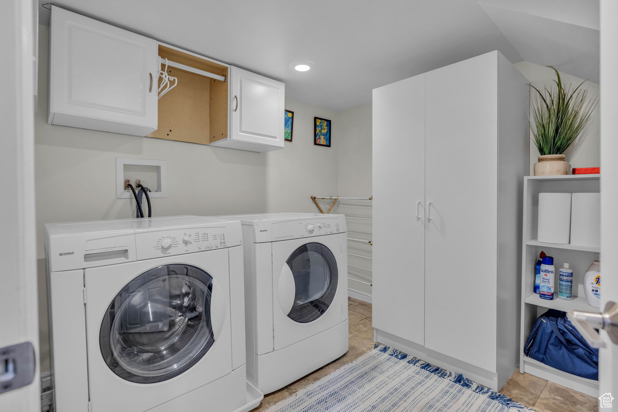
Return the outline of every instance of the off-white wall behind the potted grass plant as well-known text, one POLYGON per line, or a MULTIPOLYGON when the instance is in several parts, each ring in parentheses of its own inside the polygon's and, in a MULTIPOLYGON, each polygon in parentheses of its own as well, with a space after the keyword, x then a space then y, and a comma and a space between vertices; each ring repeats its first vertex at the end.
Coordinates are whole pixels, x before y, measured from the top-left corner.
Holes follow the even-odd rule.
MULTIPOLYGON (((551 67, 545 67, 530 62, 515 63, 515 67, 528 79, 531 85, 535 86, 539 90, 543 90, 544 87, 556 86, 553 80, 556 79, 556 73, 551 67)), ((582 83, 585 79, 571 76, 568 74, 560 73, 562 83, 568 88, 569 84, 576 87, 582 83)), ((591 99, 599 98, 599 85, 586 81, 582 85, 583 89, 588 90, 588 95, 591 99)), ((530 95, 536 91, 530 88, 530 95)), ((578 140, 571 145, 571 147, 565 151, 565 160, 569 162, 569 173, 573 167, 598 167, 601 164, 601 145, 599 135, 599 106, 597 105, 593 115, 590 119, 590 124, 583 131, 578 140)), ((530 175, 534 175, 534 164, 537 162, 538 149, 536 149, 533 141, 532 133, 530 133, 530 175)))

